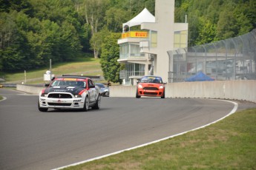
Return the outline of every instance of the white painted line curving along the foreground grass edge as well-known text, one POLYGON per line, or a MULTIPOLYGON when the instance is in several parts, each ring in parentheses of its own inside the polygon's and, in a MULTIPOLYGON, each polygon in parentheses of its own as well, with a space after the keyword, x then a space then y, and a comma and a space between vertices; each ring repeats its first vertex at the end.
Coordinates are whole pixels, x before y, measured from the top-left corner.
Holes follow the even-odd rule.
MULTIPOLYGON (((210 99, 210 100, 225 101, 225 100, 218 100, 218 99, 210 99)), ((186 134, 186 133, 188 133, 188 132, 195 131, 195 130, 197 130, 197 129, 203 129, 203 128, 205 128, 206 126, 210 126, 210 125, 213 124, 213 123, 217 123, 218 121, 223 120, 224 118, 226 118, 226 117, 232 115, 234 112, 237 111, 237 108, 238 108, 238 104, 237 104, 237 103, 235 103, 235 102, 233 102, 233 101, 226 101, 226 102, 229 102, 229 103, 233 103, 233 104, 234 104, 234 107, 233 107, 232 111, 229 112, 229 114, 226 115, 226 116, 224 116, 223 118, 220 118, 220 119, 218 119, 218 120, 215 120, 214 122, 208 123, 208 124, 206 124, 206 125, 204 125, 204 126, 200 126, 200 127, 196 128, 196 129, 191 129, 191 130, 186 131, 186 132, 181 132, 181 133, 176 134, 176 135, 171 135, 171 136, 169 136, 169 137, 164 137, 164 138, 162 138, 162 139, 160 139, 160 140, 154 140, 154 141, 152 141, 152 142, 144 143, 144 144, 139 145, 139 146, 134 146, 134 147, 132 147, 132 148, 123 149, 123 150, 120 150, 120 151, 118 151, 118 152, 113 152, 113 153, 110 153, 110 154, 105 154, 105 155, 102 155, 102 156, 99 156, 99 157, 93 157, 93 158, 91 158, 91 159, 89 159, 89 160, 83 160, 83 161, 81 161, 81 162, 79 162, 79 163, 72 163, 72 164, 70 164, 70 165, 68 165, 68 166, 62 166, 62 167, 59 167, 59 168, 56 168, 56 169, 52 169, 52 170, 65 169, 65 168, 68 168, 68 167, 70 167, 70 166, 78 166, 78 165, 80 165, 80 164, 82 164, 82 163, 88 163, 88 162, 91 162, 91 161, 93 161, 93 160, 99 160, 99 159, 102 159, 103 157, 109 157, 109 156, 111 156, 111 155, 119 154, 119 153, 122 153, 122 152, 125 152, 125 151, 130 151, 130 150, 132 150, 132 149, 138 149, 138 148, 141 148, 141 147, 143 147, 143 146, 148 146, 148 145, 151 145, 151 144, 153 144, 153 143, 158 143, 158 142, 160 142, 160 141, 162 141, 162 140, 168 140, 168 139, 170 139, 170 138, 172 138, 172 137, 177 137, 177 136, 186 134)))

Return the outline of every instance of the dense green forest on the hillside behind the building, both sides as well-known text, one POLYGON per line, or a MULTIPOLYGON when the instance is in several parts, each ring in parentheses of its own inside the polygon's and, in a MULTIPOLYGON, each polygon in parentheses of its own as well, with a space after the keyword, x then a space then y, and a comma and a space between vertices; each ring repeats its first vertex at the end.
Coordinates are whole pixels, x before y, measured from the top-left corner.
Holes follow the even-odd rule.
MULTIPOLYGON (((154 15, 154 0, 0 0, 0 71, 36 69, 88 52, 106 57, 102 48, 118 39, 111 34, 122 33, 122 23, 145 7, 154 15)), ((175 21, 188 16, 194 46, 249 33, 255 9, 255 0, 176 0, 175 21)))

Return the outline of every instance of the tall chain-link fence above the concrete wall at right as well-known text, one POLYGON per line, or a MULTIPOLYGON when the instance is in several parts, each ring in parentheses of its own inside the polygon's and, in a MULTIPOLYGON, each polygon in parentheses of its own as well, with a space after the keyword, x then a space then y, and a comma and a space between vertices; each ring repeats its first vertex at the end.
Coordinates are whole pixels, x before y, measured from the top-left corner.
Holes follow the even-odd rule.
POLYGON ((245 35, 168 51, 168 82, 203 72, 214 80, 256 80, 256 29, 245 35))

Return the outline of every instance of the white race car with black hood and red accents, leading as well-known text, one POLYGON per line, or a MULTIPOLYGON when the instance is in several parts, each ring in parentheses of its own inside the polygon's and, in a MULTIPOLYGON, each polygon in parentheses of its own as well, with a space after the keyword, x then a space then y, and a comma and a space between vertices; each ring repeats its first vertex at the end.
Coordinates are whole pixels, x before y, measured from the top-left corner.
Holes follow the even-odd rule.
POLYGON ((39 94, 38 108, 48 109, 99 109, 101 96, 91 78, 76 75, 62 75, 39 94))

